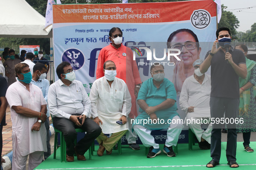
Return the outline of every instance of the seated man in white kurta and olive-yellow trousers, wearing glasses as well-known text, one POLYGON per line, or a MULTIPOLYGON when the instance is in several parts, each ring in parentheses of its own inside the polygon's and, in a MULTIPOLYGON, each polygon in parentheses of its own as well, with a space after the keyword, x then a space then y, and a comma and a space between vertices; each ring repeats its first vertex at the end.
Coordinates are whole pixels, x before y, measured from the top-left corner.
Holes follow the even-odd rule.
POLYGON ((97 137, 97 142, 100 144, 97 151, 99 156, 103 155, 105 149, 107 154, 111 154, 113 146, 127 132, 126 117, 132 106, 126 83, 115 75, 112 78, 106 77, 106 71, 115 72, 116 75, 113 61, 105 62, 105 76, 95 80, 90 93, 91 114, 102 129, 101 134, 97 137), (123 124, 117 124, 118 120, 123 120, 123 124), (107 138, 104 134, 112 135, 107 138))

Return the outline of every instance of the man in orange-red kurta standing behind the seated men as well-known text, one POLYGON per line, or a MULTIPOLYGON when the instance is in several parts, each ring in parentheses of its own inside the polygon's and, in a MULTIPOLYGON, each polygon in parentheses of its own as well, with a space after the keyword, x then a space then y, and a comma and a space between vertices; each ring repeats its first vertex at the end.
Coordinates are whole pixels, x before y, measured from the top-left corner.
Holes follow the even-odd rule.
MULTIPOLYGON (((139 70, 136 61, 133 60, 132 50, 122 44, 123 32, 120 28, 114 27, 110 29, 109 39, 112 43, 100 50, 96 78, 99 79, 104 76, 103 65, 107 60, 112 60, 115 63, 117 67, 116 77, 126 82, 132 97, 132 108, 129 117, 134 119, 138 115, 136 97, 141 84, 139 70)), ((132 133, 131 129, 126 133, 126 139, 130 148, 139 150, 139 145, 136 144, 136 134, 132 133)))

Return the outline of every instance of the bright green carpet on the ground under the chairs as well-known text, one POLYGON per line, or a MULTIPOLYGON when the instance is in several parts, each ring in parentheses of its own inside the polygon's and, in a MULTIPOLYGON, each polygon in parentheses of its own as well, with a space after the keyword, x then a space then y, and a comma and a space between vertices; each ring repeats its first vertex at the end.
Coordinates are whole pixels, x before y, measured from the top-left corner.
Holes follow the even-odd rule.
MULTIPOLYGON (((226 158, 227 142, 221 143, 221 158, 220 165, 214 170, 230 170, 227 165, 226 158)), ((251 142, 250 146, 256 150, 256 142, 251 142)), ((176 157, 167 157, 163 152, 154 158, 147 158, 145 147, 140 145, 139 151, 133 151, 128 148, 128 145, 122 145, 122 154, 118 151, 113 151, 111 155, 102 157, 97 155, 98 146, 95 146, 94 156, 89 160, 88 153, 85 154, 87 161, 78 161, 75 157, 74 162, 60 162, 60 150, 57 150, 56 159, 53 159, 53 154, 42 162, 36 170, 84 170, 84 169, 110 169, 121 170, 127 168, 135 170, 139 168, 147 169, 180 169, 180 170, 200 170, 206 169, 205 165, 211 161, 210 150, 201 150, 198 144, 193 146, 193 150, 188 150, 188 144, 178 144, 178 154, 176 157)), ((163 148, 163 145, 160 145, 163 148)), ((243 142, 237 142, 237 163, 240 170, 255 170, 256 169, 256 151, 248 153, 243 150, 243 142)))

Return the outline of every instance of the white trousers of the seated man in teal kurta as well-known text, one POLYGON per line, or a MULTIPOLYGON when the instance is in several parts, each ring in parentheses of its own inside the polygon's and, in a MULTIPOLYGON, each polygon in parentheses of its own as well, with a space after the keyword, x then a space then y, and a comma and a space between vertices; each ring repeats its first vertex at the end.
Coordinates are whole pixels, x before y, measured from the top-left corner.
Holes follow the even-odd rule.
MULTIPOLYGON (((165 141, 165 146, 176 146, 178 142, 178 136, 181 133, 182 128, 184 127, 182 125, 182 121, 179 120, 179 116, 174 116, 172 120, 176 120, 175 124, 171 123, 167 129, 167 139, 165 141)), ((159 144, 156 144, 155 138, 150 134, 151 129, 147 129, 144 126, 141 125, 134 125, 133 126, 134 131, 139 136, 139 139, 145 145, 146 147, 153 146, 155 149, 159 148, 159 144)))

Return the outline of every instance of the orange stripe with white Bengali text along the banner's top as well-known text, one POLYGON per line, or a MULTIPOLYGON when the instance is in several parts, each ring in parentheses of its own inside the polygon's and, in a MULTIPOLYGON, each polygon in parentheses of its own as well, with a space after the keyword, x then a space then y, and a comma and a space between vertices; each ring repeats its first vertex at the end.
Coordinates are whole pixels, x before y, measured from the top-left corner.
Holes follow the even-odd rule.
POLYGON ((213 0, 166 3, 111 3, 53 5, 53 23, 154 23, 190 20, 194 10, 216 16, 213 0))

